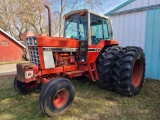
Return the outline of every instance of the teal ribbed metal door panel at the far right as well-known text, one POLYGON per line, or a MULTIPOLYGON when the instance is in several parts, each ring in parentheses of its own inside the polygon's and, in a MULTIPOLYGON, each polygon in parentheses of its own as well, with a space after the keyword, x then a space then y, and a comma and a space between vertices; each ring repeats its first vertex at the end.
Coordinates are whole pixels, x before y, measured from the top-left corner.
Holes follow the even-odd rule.
POLYGON ((145 54, 146 78, 160 80, 160 9, 147 12, 145 54))

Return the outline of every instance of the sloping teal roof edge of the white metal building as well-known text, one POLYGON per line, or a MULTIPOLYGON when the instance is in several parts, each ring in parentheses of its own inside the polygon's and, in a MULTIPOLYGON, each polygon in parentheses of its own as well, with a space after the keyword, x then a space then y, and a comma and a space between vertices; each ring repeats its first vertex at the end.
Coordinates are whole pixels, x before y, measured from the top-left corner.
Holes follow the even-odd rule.
POLYGON ((126 2, 122 3, 121 5, 117 6, 117 7, 114 8, 114 9, 110 10, 109 12, 107 12, 107 13, 104 14, 104 15, 106 15, 106 16, 107 16, 107 15, 110 15, 110 14, 116 12, 117 10, 123 8, 124 6, 128 5, 129 3, 133 2, 133 1, 135 1, 135 0, 127 0, 126 2))

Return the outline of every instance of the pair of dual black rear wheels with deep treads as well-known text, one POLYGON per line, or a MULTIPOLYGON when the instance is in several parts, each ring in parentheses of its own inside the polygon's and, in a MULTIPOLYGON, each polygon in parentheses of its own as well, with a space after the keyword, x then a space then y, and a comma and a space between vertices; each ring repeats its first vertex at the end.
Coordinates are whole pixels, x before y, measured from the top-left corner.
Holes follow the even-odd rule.
POLYGON ((125 96, 138 94, 144 82, 145 58, 140 47, 110 47, 97 59, 100 85, 125 96))

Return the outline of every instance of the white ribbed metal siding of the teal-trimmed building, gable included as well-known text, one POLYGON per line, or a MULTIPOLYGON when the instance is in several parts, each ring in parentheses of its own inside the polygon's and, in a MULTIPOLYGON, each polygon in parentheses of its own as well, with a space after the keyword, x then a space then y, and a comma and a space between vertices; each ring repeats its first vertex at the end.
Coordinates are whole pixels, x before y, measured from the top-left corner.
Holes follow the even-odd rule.
MULTIPOLYGON (((160 4, 160 0, 135 0, 116 12, 160 4)), ((114 39, 125 46, 139 46, 145 50, 147 11, 111 15, 114 39)))

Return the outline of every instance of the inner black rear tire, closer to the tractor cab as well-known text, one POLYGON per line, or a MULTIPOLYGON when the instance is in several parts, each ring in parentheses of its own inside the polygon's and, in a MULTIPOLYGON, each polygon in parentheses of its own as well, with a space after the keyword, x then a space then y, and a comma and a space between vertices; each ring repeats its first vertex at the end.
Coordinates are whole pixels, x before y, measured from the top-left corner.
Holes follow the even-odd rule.
POLYGON ((96 61, 100 87, 112 90, 112 67, 121 47, 113 46, 103 50, 96 61))

